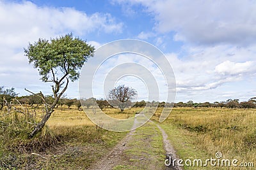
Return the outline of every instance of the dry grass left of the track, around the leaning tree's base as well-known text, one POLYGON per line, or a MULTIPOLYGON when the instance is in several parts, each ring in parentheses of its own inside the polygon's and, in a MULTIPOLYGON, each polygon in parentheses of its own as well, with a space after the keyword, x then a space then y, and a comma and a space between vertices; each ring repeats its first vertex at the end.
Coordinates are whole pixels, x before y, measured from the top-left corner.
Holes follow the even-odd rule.
MULTIPOLYGON (((43 109, 35 110, 38 121, 43 109)), ((124 111, 116 117, 125 118, 132 114, 124 111)), ((72 106, 70 109, 56 108, 42 132, 36 138, 28 139, 33 126, 24 122, 24 115, 16 115, 1 118, 8 125, 0 124, 3 129, 0 131, 0 169, 87 169, 127 133, 101 129, 83 111, 72 106), (58 139, 57 143, 48 140, 48 136, 58 139)))

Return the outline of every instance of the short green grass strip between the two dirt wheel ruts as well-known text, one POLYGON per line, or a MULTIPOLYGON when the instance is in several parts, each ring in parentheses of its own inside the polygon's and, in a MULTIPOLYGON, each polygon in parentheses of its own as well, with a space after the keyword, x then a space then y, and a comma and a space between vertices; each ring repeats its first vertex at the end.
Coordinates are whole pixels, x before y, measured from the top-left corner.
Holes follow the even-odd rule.
MULTIPOLYGON (((165 151, 161 132, 156 125, 148 122, 136 129, 124 151, 126 169, 163 169, 165 151)), ((121 168, 122 169, 122 168, 121 168)))

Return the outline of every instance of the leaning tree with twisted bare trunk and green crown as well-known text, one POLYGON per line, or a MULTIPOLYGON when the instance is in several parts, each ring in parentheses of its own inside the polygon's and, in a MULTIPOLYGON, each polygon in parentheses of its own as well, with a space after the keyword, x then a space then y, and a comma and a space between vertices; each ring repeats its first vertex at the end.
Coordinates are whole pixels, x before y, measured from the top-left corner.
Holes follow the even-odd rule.
POLYGON ((80 38, 73 38, 72 34, 50 40, 40 38, 34 44, 29 43, 28 48, 24 48, 29 64, 33 63, 38 69, 42 81, 51 83, 54 97, 54 100, 49 101, 42 92, 37 94, 44 103, 45 115, 29 135, 30 138, 44 127, 60 97, 67 90, 68 82, 79 78, 81 67, 93 56, 94 50, 93 46, 80 38))

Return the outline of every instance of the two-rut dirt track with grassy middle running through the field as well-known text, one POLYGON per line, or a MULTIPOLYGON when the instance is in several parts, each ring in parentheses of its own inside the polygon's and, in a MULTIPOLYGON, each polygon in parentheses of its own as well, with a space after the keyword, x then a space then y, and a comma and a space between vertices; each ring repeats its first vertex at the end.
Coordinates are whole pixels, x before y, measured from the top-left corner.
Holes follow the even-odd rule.
MULTIPOLYGON (((136 120, 134 121, 134 125, 136 120)), ((104 158, 100 159, 92 170, 121 169, 179 169, 178 166, 166 167, 165 153, 176 159, 175 150, 168 141, 164 130, 150 121, 129 132, 104 158), (163 141, 163 143, 162 143, 163 141)))

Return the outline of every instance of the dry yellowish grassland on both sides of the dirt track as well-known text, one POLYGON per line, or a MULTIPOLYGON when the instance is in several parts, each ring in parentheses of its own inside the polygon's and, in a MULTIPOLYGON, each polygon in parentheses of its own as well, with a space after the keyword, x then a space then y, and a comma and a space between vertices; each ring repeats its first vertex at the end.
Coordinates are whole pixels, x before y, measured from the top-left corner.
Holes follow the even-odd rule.
MULTIPOLYGON (((132 108, 120 113, 118 110, 108 108, 104 112, 115 118, 129 118, 134 117, 134 114, 140 110, 142 109, 132 108)), ((40 113, 40 109, 36 111, 40 113)), ((223 159, 237 159, 239 160, 237 164, 253 162, 256 166, 255 111, 227 108, 174 108, 167 120, 159 125, 168 134, 180 159, 205 160, 210 157, 215 158, 215 153, 221 152, 223 159)), ((161 108, 157 110, 152 120, 158 122, 160 114, 161 108)), ((7 120, 2 118, 1 121, 7 120)), ((104 157, 127 134, 127 132, 100 129, 92 124, 83 111, 78 111, 75 107, 56 109, 47 122, 47 127, 36 139, 27 139, 26 134, 31 126, 24 124, 19 127, 18 122, 22 122, 22 117, 13 115, 8 120, 8 126, 1 124, 0 169, 86 169, 100 157, 104 157), (49 139, 52 143, 46 142, 49 139)), ((150 128, 152 129, 145 125, 138 131, 145 131, 144 133, 147 134, 150 128)), ((138 150, 139 155, 143 154, 143 147, 140 148, 139 145, 141 144, 136 145, 138 148, 131 147, 127 150, 125 152, 127 157, 133 150, 138 150)), ((163 151, 161 139, 157 136, 152 136, 152 145, 163 151)), ((154 153, 160 154, 157 150, 154 153)), ((129 159, 132 161, 132 158, 129 159)), ((135 162, 134 165, 137 163, 135 162)), ((115 167, 115 169, 125 168, 128 167, 125 165, 115 167)), ((232 169, 232 167, 201 169, 205 168, 232 169)), ((132 166, 132 169, 136 168, 132 166)), ((185 166, 184 169, 200 169, 200 167, 185 166)), ((234 169, 243 168, 234 167, 234 169)))

